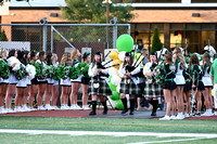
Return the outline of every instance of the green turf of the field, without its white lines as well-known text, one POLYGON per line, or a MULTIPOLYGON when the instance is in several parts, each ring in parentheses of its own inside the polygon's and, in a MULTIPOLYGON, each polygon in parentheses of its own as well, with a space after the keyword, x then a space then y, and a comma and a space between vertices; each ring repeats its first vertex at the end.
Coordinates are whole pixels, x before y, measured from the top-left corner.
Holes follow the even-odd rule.
MULTIPOLYGON (((166 133, 217 133, 216 120, 176 120, 124 118, 59 118, 59 117, 17 117, 0 116, 0 129, 17 130, 69 130, 69 131, 114 131, 114 132, 166 132, 166 133)), ((0 133, 1 143, 136 143, 177 140, 186 138, 155 136, 73 136, 52 134, 8 134, 0 133), (13 138, 13 139, 10 139, 13 138)), ((188 138, 189 139, 189 138, 188 138)), ((188 143, 216 143, 217 139, 189 141, 188 143)), ((187 142, 175 142, 187 143, 187 142)))

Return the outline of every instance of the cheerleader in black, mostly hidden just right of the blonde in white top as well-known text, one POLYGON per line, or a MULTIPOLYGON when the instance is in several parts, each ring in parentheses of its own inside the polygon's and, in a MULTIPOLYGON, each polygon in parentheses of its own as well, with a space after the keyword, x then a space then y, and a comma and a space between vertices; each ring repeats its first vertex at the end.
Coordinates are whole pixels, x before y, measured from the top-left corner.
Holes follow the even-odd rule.
MULTIPOLYGON (((186 84, 183 86, 183 99, 186 101, 186 115, 184 117, 190 117, 190 95, 191 95, 191 83, 190 83, 190 73, 189 73, 189 68, 187 68, 188 65, 186 65, 186 68, 183 69, 183 77, 186 80, 186 84)), ((184 108, 184 107, 183 107, 184 108)), ((184 109, 183 109, 184 112, 184 109)))

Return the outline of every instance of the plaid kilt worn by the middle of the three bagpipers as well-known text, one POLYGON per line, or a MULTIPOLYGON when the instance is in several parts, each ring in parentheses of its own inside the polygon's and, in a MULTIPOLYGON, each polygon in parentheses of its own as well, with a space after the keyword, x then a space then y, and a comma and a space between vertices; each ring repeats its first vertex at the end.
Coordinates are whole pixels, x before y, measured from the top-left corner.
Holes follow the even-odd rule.
POLYGON ((125 93, 129 95, 141 94, 141 89, 138 84, 135 84, 135 82, 131 79, 127 79, 127 82, 129 83, 125 83, 125 79, 122 80, 119 93, 125 93))

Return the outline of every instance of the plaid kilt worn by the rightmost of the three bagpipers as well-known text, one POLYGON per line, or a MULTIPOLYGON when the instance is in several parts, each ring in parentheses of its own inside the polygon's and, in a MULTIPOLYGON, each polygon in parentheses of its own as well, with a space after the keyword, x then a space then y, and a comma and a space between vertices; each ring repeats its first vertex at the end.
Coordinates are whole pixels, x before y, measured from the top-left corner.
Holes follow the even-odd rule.
POLYGON ((154 83, 145 83, 144 91, 143 91, 144 97, 161 97, 163 96, 163 88, 161 84, 154 83))

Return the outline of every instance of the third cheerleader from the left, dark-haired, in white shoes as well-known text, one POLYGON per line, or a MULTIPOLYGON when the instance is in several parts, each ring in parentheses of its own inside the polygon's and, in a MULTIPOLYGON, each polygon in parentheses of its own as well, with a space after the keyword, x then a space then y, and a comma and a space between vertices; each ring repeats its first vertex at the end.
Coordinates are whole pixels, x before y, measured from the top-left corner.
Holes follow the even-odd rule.
MULTIPOLYGON (((17 60, 20 61, 20 63, 17 63, 17 65, 20 65, 20 69, 22 67, 24 67, 26 69, 26 66, 24 65, 24 52, 23 51, 17 51, 17 60)), ((20 73, 20 71, 16 71, 20 73)), ((21 73, 26 73, 21 71, 21 73)), ((26 76, 22 77, 22 79, 17 79, 17 84, 16 84, 16 95, 15 95, 15 112, 26 112, 27 109, 24 109, 22 107, 23 105, 23 100, 25 96, 25 91, 27 90, 27 81, 26 81, 26 76)))

